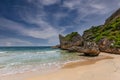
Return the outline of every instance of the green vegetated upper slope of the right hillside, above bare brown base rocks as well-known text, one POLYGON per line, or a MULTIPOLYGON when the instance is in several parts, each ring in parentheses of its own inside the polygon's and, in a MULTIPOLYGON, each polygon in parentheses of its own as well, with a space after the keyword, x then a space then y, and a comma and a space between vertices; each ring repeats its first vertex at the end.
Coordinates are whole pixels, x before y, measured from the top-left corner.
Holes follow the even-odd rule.
POLYGON ((113 13, 104 25, 93 26, 84 31, 86 41, 99 42, 102 38, 114 41, 112 47, 120 47, 120 9, 113 13))

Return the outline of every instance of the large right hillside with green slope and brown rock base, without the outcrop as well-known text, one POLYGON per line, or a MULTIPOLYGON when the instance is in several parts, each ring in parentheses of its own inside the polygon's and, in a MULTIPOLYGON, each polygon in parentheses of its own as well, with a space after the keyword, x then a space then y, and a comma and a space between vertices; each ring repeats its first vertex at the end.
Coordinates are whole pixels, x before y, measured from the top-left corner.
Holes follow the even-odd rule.
POLYGON ((104 52, 120 54, 120 9, 113 13, 104 25, 94 26, 84 31, 86 41, 94 41, 104 52))

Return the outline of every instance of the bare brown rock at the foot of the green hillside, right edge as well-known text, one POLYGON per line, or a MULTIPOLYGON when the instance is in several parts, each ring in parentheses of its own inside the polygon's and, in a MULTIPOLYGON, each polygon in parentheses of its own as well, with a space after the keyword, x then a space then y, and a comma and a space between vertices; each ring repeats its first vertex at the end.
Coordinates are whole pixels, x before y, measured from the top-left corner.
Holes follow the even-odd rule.
POLYGON ((102 52, 120 54, 120 48, 112 47, 114 45, 113 40, 108 40, 107 38, 101 39, 99 41, 99 49, 102 52))

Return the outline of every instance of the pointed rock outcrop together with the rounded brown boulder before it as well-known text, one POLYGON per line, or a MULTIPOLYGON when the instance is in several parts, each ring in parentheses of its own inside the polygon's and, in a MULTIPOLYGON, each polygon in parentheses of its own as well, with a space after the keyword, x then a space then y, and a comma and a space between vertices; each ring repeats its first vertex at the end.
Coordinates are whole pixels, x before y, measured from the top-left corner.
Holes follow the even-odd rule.
POLYGON ((86 56, 99 55, 100 51, 95 42, 83 41, 83 38, 80 36, 80 34, 78 33, 74 34, 74 33, 76 32, 72 32, 71 34, 68 34, 65 37, 59 35, 61 49, 66 49, 69 52, 84 53, 86 56), (67 39, 68 36, 69 37, 72 36, 72 37, 67 39))

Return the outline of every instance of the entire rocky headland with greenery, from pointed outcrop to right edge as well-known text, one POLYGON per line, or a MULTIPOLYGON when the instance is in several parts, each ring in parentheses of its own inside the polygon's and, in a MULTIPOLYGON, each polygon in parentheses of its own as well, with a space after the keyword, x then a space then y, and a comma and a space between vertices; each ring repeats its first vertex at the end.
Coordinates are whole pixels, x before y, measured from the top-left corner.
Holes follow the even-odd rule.
POLYGON ((104 25, 92 26, 82 37, 72 32, 59 35, 60 48, 97 56, 100 51, 120 54, 120 9, 113 13, 104 25))

